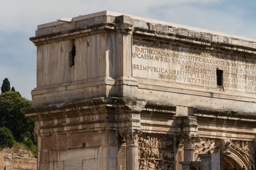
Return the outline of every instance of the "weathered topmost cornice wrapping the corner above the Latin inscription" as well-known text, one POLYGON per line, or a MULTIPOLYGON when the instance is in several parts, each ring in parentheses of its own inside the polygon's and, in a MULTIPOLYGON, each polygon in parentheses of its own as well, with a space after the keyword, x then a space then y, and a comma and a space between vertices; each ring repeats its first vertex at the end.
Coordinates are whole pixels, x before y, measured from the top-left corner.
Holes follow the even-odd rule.
POLYGON ((145 28, 145 26, 137 26, 136 20, 120 20, 119 17, 116 17, 116 23, 98 23, 83 28, 74 28, 68 31, 59 31, 32 37, 30 40, 35 45, 44 45, 95 34, 125 33, 133 34, 137 38, 169 42, 178 46, 185 45, 190 48, 203 48, 212 51, 256 57, 256 42, 192 31, 185 28, 175 28, 162 24, 146 23, 148 27, 145 28))

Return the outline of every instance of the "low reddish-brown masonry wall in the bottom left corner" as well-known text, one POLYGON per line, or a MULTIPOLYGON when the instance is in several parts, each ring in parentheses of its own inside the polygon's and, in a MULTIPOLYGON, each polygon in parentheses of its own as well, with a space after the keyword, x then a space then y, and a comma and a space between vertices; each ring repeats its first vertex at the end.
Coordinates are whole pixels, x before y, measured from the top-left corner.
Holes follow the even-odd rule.
POLYGON ((37 159, 0 153, 0 170, 37 170, 37 159))

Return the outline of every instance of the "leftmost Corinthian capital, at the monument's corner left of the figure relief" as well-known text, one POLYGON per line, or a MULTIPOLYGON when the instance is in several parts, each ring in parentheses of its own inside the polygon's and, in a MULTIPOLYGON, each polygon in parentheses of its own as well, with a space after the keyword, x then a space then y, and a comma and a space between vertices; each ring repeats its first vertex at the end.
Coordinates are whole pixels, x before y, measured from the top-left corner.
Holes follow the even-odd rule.
POLYGON ((139 135, 142 133, 140 129, 125 129, 120 134, 126 139, 127 145, 138 145, 139 135))

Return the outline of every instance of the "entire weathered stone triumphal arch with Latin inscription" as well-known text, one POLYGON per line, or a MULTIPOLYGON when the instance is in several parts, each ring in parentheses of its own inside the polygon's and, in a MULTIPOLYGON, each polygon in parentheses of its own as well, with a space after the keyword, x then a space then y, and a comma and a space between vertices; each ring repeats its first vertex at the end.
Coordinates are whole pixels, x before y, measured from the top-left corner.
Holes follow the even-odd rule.
POLYGON ((38 26, 38 170, 250 167, 256 40, 102 11, 38 26), (190 162, 190 163, 189 163, 190 162))

